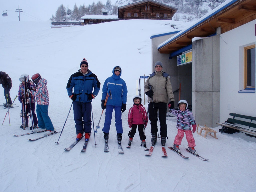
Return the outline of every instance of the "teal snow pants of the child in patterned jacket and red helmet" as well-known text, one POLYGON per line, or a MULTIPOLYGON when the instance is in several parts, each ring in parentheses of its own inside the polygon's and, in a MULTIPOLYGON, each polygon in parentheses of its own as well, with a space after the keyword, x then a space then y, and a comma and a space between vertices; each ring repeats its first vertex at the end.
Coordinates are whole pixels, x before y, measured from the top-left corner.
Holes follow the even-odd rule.
POLYGON ((36 105, 38 127, 41 129, 54 131, 53 124, 48 116, 48 107, 49 105, 36 105))

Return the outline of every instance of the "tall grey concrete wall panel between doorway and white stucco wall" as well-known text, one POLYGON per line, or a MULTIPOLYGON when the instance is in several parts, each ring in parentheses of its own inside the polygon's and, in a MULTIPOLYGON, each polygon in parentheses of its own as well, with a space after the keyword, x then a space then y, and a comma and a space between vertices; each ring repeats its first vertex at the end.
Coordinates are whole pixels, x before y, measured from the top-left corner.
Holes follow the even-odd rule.
POLYGON ((192 42, 192 112, 197 124, 216 127, 220 119, 220 37, 192 42))

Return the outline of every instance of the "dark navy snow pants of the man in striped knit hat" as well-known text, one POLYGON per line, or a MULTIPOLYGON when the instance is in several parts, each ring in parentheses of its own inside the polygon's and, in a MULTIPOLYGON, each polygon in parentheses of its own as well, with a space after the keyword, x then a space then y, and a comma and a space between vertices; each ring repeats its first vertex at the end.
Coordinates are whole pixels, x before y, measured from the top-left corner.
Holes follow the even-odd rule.
POLYGON ((76 123, 76 132, 83 134, 91 133, 91 102, 83 103, 79 101, 73 102, 74 121, 76 123))

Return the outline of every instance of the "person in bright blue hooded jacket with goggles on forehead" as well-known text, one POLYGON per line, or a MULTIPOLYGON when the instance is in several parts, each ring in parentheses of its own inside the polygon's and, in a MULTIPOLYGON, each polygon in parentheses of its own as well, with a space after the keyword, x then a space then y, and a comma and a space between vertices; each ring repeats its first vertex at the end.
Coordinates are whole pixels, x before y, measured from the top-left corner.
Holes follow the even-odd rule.
POLYGON ((125 81, 121 79, 121 67, 114 67, 112 73, 113 75, 105 80, 102 88, 101 108, 106 109, 105 122, 102 131, 104 133, 105 142, 108 142, 112 112, 113 109, 115 109, 117 140, 121 143, 123 133, 121 117, 122 113, 126 110, 127 87, 125 81), (106 104, 105 100, 107 101, 106 104))

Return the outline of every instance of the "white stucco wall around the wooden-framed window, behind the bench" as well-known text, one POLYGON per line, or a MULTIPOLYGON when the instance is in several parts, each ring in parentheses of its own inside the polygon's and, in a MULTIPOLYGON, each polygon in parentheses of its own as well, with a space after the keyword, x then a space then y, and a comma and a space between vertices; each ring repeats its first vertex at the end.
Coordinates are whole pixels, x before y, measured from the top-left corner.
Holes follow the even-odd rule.
POLYGON ((256 93, 238 93, 243 89, 243 48, 255 44, 256 19, 221 34, 220 38, 220 122, 229 113, 256 116, 256 93))

